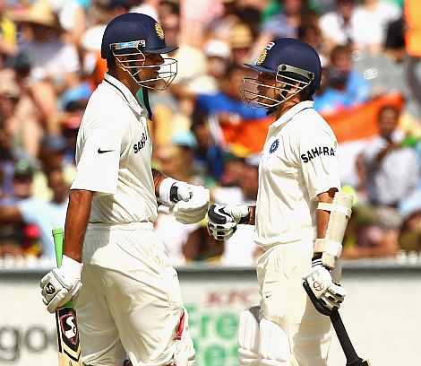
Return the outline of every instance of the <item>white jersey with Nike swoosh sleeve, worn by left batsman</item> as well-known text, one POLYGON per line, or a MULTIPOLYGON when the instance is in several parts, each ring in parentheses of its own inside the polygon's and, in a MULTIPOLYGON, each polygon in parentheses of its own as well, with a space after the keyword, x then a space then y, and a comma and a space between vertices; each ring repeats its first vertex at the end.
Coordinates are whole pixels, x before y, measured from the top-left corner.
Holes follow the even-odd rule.
POLYGON ((71 187, 95 192, 90 222, 155 222, 146 116, 128 88, 109 74, 92 93, 77 137, 71 187))

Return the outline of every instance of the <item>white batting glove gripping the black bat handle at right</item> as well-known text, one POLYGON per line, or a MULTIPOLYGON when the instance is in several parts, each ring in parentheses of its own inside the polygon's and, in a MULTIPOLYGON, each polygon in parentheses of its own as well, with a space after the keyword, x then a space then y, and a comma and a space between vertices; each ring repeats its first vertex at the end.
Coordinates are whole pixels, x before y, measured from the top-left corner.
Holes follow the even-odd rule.
POLYGON ((317 301, 321 309, 326 312, 322 312, 318 306, 316 306, 316 309, 325 315, 330 313, 333 308, 339 309, 340 304, 345 299, 346 292, 339 283, 333 282, 331 271, 322 266, 320 258, 314 259, 312 271, 305 276, 304 280, 314 293, 314 301, 317 301))

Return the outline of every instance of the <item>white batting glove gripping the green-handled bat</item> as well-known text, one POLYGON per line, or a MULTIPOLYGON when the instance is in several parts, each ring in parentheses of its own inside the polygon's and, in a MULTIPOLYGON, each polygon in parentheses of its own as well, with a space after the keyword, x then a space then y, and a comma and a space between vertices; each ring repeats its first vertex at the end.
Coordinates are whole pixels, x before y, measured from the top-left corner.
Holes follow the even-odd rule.
POLYGON ((42 301, 50 313, 71 301, 82 287, 82 263, 63 256, 62 266, 54 268, 42 277, 39 287, 42 301))

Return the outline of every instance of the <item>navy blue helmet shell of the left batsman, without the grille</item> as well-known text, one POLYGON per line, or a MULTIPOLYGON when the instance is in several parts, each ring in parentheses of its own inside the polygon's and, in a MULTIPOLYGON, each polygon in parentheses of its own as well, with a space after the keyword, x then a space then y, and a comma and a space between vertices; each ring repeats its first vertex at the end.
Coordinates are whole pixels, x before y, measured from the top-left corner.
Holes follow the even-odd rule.
POLYGON ((139 47, 145 53, 167 54, 177 47, 168 47, 164 30, 159 22, 142 13, 125 13, 107 24, 102 37, 101 57, 113 57, 111 45, 141 41, 139 47))

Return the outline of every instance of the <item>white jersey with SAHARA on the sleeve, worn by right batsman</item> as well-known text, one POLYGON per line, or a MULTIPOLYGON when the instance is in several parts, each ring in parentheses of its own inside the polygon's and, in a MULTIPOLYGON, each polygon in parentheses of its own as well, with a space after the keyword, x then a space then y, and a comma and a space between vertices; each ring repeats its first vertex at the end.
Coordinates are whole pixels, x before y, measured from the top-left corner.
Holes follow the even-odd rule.
POLYGON ((313 104, 296 104, 269 127, 259 165, 258 245, 314 240, 317 195, 340 187, 338 142, 313 104))

